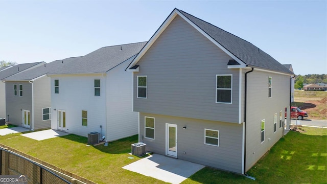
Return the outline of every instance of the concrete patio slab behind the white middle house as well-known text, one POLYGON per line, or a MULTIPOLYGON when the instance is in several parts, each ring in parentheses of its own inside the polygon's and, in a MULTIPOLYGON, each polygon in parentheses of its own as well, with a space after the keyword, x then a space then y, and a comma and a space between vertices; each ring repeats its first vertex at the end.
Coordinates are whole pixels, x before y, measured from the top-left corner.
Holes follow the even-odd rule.
POLYGON ((26 133, 26 134, 21 134, 21 135, 29 137, 30 139, 42 141, 42 140, 46 140, 46 139, 55 138, 58 136, 68 135, 68 134, 70 134, 70 133, 50 129, 50 130, 42 130, 42 131, 26 133))

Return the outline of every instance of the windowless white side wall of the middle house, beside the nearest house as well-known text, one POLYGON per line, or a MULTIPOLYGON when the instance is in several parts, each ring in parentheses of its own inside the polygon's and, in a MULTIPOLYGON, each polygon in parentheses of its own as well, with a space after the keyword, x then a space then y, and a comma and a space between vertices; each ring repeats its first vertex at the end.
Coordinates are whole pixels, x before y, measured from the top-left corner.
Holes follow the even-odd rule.
POLYGON ((138 113, 132 110, 132 73, 125 68, 130 60, 107 72, 107 140, 138 133, 138 113))

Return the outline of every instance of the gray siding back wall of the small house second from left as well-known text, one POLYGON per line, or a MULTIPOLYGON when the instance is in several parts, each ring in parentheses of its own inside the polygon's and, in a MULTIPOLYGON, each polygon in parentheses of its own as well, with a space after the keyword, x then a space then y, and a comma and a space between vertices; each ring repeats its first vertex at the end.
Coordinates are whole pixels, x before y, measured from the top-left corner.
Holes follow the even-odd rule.
POLYGON ((30 110, 32 117, 32 84, 27 81, 6 81, 6 112, 9 114, 9 123, 22 126, 21 109, 30 110), (17 96, 14 96, 14 84, 17 84, 17 96), (19 84, 22 84, 22 97, 19 97, 19 84))

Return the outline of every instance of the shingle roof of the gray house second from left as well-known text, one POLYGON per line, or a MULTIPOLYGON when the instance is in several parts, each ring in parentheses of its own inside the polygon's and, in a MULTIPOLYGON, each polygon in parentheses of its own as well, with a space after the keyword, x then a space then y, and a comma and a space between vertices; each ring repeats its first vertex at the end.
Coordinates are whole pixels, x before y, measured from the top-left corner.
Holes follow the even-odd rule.
POLYGON ((35 67, 31 70, 24 71, 5 78, 5 81, 29 81, 34 80, 38 77, 52 73, 53 71, 61 71, 70 65, 72 62, 78 61, 80 57, 71 57, 63 60, 56 60, 50 63, 43 63, 42 65, 35 67))

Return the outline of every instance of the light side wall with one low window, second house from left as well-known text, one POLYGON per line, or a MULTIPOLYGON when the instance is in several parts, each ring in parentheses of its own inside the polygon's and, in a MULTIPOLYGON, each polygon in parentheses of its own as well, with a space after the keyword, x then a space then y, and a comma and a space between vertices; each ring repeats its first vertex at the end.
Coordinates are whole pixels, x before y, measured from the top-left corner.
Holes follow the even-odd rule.
POLYGON ((50 128, 51 120, 43 121, 42 108, 51 107, 50 77, 41 77, 34 81, 34 127, 33 129, 50 128))

